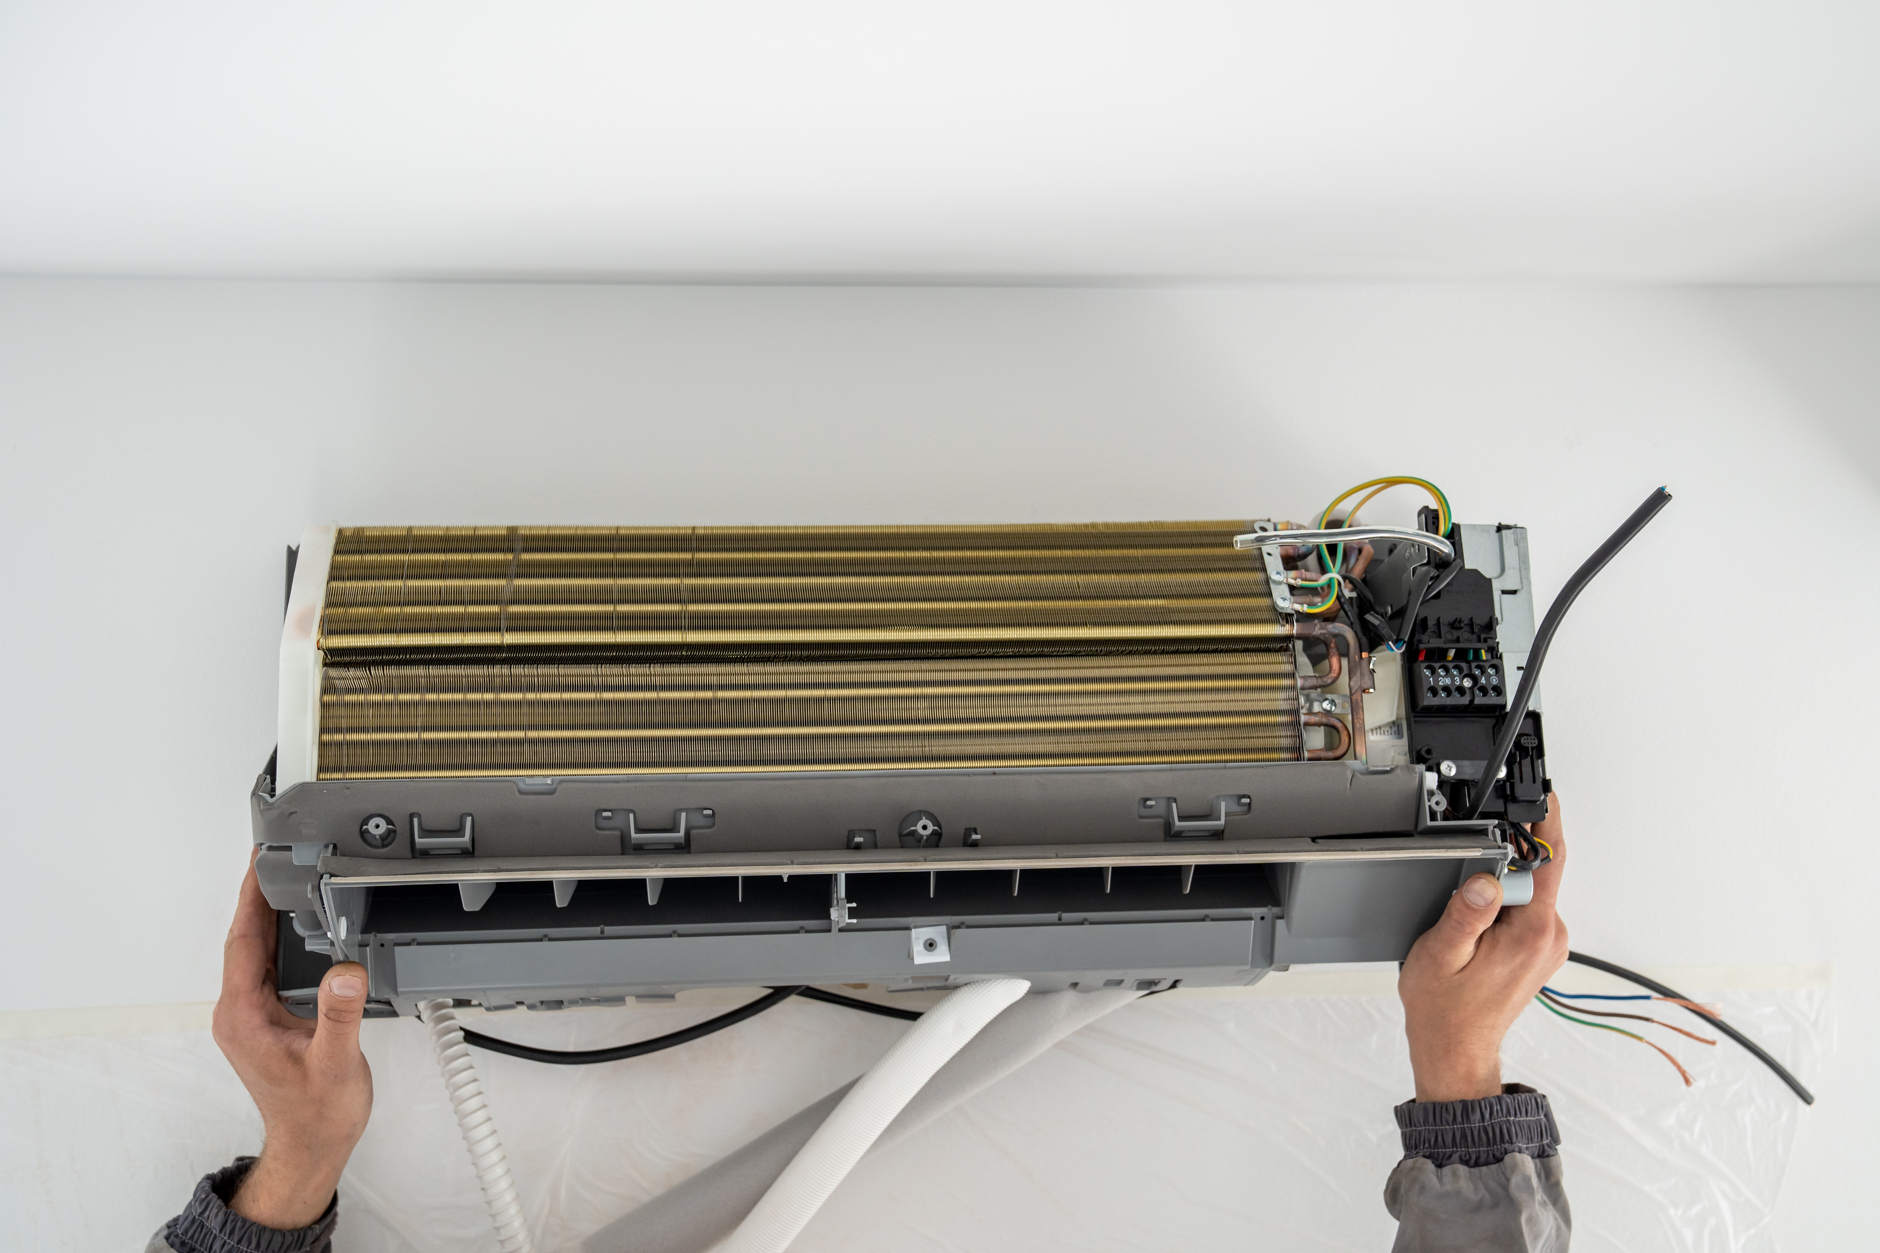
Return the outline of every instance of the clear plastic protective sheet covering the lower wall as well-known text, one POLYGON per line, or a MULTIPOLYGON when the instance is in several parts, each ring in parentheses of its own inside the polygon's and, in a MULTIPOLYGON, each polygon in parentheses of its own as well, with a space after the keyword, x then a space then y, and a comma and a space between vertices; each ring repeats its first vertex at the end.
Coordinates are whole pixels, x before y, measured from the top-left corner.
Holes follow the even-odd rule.
MULTIPOLYGON (((1574 969, 1555 982, 1628 990, 1574 969)), ((867 1157, 793 1247, 1387 1249, 1382 1191, 1401 1155, 1391 1106, 1410 1095, 1387 988, 1384 971, 1350 971, 1342 984, 1335 973, 1273 975, 1252 990, 1126 1005, 867 1157)), ((1825 986, 1683 990, 1718 999, 1803 1082, 1833 1048, 1825 986)), ((466 1026, 592 1048, 744 996, 468 1013, 466 1026)), ((1666 1005, 1639 1013, 1701 1031, 1666 1005)), ((799 999, 620 1063, 551 1067, 485 1050, 476 1063, 538 1247, 556 1253, 854 1078, 904 1029, 799 999)), ((1574 1247, 1775 1247, 1777 1195, 1807 1110, 1730 1041, 1645 1031, 1696 1088, 1656 1052, 1538 1007, 1508 1037, 1506 1076, 1553 1099, 1574 1247)), ((363 1039, 376 1103, 340 1183, 337 1247, 494 1249, 421 1026, 368 1022, 363 1039)), ((0 1245, 143 1247, 196 1178, 258 1142, 254 1106, 205 1029, 0 1041, 0 1245)))

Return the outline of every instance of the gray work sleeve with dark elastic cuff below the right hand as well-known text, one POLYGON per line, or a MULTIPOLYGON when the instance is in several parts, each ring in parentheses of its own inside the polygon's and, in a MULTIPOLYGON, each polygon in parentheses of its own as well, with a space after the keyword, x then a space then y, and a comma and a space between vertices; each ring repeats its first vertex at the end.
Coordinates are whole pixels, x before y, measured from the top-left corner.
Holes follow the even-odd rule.
POLYGON ((1481 1101, 1404 1101, 1397 1127, 1393 1253, 1566 1253, 1574 1215, 1547 1097, 1506 1084, 1481 1101))

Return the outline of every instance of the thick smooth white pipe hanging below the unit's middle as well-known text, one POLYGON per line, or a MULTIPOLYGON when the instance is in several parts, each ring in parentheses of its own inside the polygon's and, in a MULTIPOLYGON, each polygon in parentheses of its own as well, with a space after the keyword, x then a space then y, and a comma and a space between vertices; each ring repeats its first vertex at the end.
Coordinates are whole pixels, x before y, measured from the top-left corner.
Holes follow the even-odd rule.
POLYGON ((808 1227, 829 1193, 895 1122, 908 1101, 979 1029, 1032 984, 1025 979, 970 982, 921 1014, 919 1022, 855 1080, 803 1152, 744 1215, 718 1253, 784 1253, 808 1227))

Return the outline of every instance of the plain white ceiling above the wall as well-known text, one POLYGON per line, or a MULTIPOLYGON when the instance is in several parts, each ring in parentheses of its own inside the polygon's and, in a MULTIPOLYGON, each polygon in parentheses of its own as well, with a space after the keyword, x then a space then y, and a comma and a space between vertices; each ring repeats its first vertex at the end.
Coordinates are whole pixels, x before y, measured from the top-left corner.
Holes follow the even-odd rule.
POLYGON ((1880 4, 0 0, 0 271, 1880 280, 1880 4))

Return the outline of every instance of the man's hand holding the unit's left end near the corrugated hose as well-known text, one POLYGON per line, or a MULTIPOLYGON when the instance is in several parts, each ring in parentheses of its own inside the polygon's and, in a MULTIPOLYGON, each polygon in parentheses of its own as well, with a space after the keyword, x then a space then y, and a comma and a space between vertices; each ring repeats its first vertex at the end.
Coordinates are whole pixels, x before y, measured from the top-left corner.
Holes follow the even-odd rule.
POLYGON ((248 866, 222 949, 214 1037, 261 1108, 261 1159, 229 1210, 263 1227, 306 1227, 333 1200, 340 1170, 372 1114, 372 1071, 359 1052, 365 967, 342 962, 320 981, 320 1016, 295 1018, 274 986, 276 915, 248 866))

